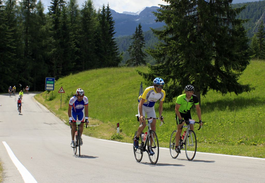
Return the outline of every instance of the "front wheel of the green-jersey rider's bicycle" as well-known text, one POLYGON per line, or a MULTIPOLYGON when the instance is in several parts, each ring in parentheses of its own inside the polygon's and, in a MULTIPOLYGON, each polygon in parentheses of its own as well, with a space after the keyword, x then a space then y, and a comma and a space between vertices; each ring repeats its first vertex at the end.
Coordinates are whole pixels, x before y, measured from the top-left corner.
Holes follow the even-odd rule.
POLYGON ((185 141, 185 152, 188 160, 193 160, 197 150, 197 138, 193 130, 189 130, 189 133, 186 134, 187 139, 185 141))

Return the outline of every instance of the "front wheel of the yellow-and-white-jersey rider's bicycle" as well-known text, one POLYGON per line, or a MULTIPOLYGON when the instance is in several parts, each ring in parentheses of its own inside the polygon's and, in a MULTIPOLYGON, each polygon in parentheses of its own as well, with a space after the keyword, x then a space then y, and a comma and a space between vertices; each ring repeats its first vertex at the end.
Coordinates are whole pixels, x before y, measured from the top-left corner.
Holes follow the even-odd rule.
POLYGON ((159 156, 159 143, 158 143, 158 138, 156 135, 156 132, 154 132, 153 130, 150 130, 150 136, 148 136, 147 140, 147 150, 148 150, 148 157, 149 160, 152 164, 156 164, 158 161, 158 156, 159 156), (151 140, 153 140, 152 145, 150 144, 151 140), (150 155, 149 154, 149 150, 152 149, 154 154, 150 155))

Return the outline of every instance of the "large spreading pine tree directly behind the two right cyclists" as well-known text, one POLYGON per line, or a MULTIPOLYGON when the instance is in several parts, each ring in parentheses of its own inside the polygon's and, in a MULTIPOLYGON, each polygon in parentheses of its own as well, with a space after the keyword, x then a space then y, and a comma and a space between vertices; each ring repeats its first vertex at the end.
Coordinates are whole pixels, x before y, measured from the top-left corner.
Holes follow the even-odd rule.
POLYGON ((139 71, 146 80, 165 80, 167 100, 183 92, 187 84, 195 86, 195 94, 205 95, 210 89, 222 94, 250 91, 249 84, 238 82, 250 64, 248 38, 236 19, 244 8, 231 7, 228 1, 173 1, 155 12, 157 21, 166 23, 165 30, 154 30, 160 42, 148 49, 157 61, 149 73, 139 71))

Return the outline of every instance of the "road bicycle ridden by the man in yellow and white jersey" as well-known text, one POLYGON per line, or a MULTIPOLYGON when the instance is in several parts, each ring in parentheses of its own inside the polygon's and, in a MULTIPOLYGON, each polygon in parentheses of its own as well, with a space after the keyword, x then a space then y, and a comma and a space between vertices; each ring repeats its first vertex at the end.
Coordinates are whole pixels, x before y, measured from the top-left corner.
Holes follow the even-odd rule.
MULTIPOLYGON (((139 121, 139 116, 137 116, 137 120, 139 121)), ((163 117, 161 116, 163 119, 163 117)), ((139 148, 136 149, 133 145, 133 152, 134 152, 134 157, 136 161, 140 162, 143 158, 143 152, 146 151, 148 153, 149 160, 152 164, 156 164, 159 156, 159 144, 158 144, 158 138, 156 135, 156 132, 151 130, 151 123, 153 122, 153 119, 159 119, 159 118, 143 118, 143 120, 148 120, 148 130, 146 134, 146 138, 144 141, 144 133, 142 132, 141 135, 139 136, 139 140, 141 140, 139 143, 139 148), (147 147, 147 149, 146 149, 147 147), (154 152, 153 155, 151 155, 149 152, 152 150, 154 152)), ((163 121, 164 123, 164 121, 163 121)), ((160 126, 162 125, 162 121, 160 126)), ((143 126, 143 123, 140 125, 140 127, 143 126)), ((137 131, 134 134, 134 137, 136 136, 137 131)))

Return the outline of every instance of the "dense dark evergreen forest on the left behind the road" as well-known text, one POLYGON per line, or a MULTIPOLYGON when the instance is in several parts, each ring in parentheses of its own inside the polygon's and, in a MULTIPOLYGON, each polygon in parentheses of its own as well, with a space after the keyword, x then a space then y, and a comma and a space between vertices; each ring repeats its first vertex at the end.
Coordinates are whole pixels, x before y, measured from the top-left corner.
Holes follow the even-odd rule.
POLYGON ((109 4, 95 10, 92 0, 51 0, 47 13, 41 1, 0 0, 0 92, 43 91, 45 77, 118 66, 114 24, 109 4))

